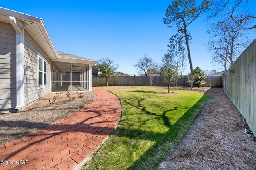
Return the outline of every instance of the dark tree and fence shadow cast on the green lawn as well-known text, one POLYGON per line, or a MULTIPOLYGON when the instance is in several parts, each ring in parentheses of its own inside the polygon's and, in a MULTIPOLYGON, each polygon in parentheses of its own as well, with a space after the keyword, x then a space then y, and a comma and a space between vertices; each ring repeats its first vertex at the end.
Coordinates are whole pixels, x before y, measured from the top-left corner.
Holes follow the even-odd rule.
MULTIPOLYGON (((114 131, 114 135, 120 136, 120 137, 128 137, 130 139, 133 138, 140 138, 143 140, 150 140, 155 141, 154 145, 152 145, 146 152, 144 152, 138 160, 136 160, 128 169, 134 170, 134 169, 154 169, 156 168, 162 160, 164 160, 165 156, 168 156, 170 153, 169 149, 171 147, 174 147, 180 141, 182 140, 182 137, 186 134, 188 129, 190 128, 190 125, 193 123, 196 116, 200 113, 203 106, 205 105, 206 101, 210 97, 208 95, 203 95, 192 107, 188 109, 188 107, 183 108, 177 108, 174 107, 174 109, 166 109, 161 115, 158 115, 156 113, 152 113, 150 111, 146 110, 146 107, 142 106, 142 102, 146 99, 140 99, 138 100, 138 106, 135 106, 131 102, 135 98, 131 98, 129 100, 122 100, 126 104, 135 107, 137 109, 140 109, 143 111, 143 113, 146 113, 147 115, 153 115, 154 118, 146 119, 141 122, 141 126, 146 124, 146 121, 152 120, 152 119, 159 119, 164 121, 164 125, 168 128, 168 131, 166 133, 154 133, 150 131, 141 131, 141 130, 134 130, 134 129, 120 129, 117 128, 114 131), (178 109, 188 109, 173 125, 170 123, 170 118, 166 116, 166 113, 172 112, 174 110, 178 109)), ((162 107, 163 108, 163 107, 162 107)), ((140 114, 140 113, 139 113, 140 114)), ((128 114, 130 115, 130 114, 128 114)), ((134 113, 136 115, 136 113, 134 113)), ((124 116, 124 115, 122 115, 124 116)), ((140 126, 140 127, 141 127, 140 126)), ((140 129, 139 127, 139 129, 140 129)))

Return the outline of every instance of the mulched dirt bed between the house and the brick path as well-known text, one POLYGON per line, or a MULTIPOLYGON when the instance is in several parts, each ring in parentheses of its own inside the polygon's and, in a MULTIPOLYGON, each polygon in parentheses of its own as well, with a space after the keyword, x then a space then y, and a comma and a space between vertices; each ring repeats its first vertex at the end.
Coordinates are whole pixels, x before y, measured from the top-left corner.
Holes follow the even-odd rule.
POLYGON ((83 98, 72 92, 71 98, 74 96, 75 99, 71 100, 66 94, 62 93, 57 97, 56 93, 51 93, 26 107, 24 111, 0 114, 0 145, 57 123, 96 99, 94 92, 82 92, 83 98), (55 103, 50 104, 49 100, 52 102, 54 96, 55 103))

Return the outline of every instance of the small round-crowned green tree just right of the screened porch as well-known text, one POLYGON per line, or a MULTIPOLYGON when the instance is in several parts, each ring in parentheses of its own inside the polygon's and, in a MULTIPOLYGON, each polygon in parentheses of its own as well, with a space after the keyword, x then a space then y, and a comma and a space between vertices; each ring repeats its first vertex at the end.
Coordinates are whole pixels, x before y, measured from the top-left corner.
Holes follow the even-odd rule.
POLYGON ((108 57, 100 59, 94 68, 99 72, 98 77, 106 78, 107 86, 109 77, 117 77, 120 74, 120 72, 116 72, 118 65, 114 64, 108 57))

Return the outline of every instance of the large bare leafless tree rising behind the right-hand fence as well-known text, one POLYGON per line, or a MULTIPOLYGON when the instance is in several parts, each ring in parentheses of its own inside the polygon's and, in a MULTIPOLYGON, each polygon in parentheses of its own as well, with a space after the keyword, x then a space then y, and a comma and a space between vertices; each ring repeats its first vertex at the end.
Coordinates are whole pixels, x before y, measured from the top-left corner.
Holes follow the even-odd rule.
POLYGON ((241 52, 248 46, 251 39, 246 35, 255 26, 250 25, 256 19, 250 12, 241 11, 247 1, 219 0, 215 10, 208 17, 212 20, 208 33, 212 40, 207 42, 212 52, 212 63, 219 63, 227 70, 241 52))

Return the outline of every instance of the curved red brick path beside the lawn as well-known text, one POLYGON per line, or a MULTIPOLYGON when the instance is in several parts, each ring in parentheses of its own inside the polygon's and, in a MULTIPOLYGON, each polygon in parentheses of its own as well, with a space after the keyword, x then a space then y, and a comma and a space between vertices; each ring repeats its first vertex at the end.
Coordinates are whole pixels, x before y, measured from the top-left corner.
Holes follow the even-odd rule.
POLYGON ((0 164, 0 169, 74 168, 110 135, 120 119, 120 101, 107 90, 125 88, 94 88, 97 98, 86 108, 50 127, 2 145, 0 160, 28 160, 28 164, 0 164))

